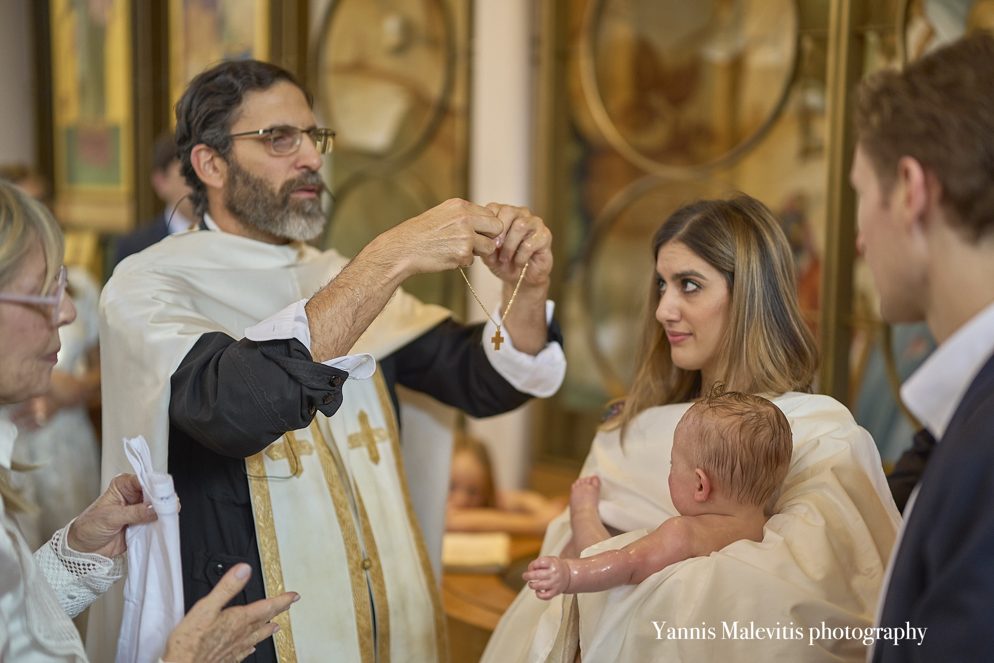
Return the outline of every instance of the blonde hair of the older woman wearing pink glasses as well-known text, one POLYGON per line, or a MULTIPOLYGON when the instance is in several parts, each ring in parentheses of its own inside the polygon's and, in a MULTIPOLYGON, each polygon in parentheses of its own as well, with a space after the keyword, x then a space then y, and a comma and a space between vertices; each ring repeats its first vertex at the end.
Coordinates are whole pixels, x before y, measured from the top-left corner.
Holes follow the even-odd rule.
MULTIPOLYGON (((0 289, 5 288, 35 250, 45 256, 48 292, 62 267, 66 245, 62 230, 48 209, 6 180, 0 180, 0 289)), ((0 351, 3 351, 0 349, 0 351)), ((15 470, 30 469, 18 463, 15 470)), ((11 511, 31 511, 32 505, 11 485, 10 474, 0 468, 0 496, 11 511)))

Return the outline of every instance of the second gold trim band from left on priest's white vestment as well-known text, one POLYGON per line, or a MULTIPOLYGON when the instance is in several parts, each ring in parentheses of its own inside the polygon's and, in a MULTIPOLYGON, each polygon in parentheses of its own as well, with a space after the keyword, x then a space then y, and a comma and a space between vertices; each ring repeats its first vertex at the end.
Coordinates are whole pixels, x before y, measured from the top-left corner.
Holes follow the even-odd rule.
MULTIPOLYGON (((339 474, 331 447, 321 432, 317 419, 311 421, 311 435, 314 436, 314 448, 321 463, 331 501, 335 505, 335 515, 338 517, 338 528, 342 534, 342 544, 349 563, 349 580, 352 585, 352 604, 356 611, 356 633, 359 638, 359 654, 362 663, 376 663, 376 643, 373 641, 373 613, 370 609, 369 588, 366 584, 366 571, 363 570, 363 553, 359 545, 359 535, 356 524, 352 520, 352 509, 345 494, 343 481, 348 477, 339 474)), ((329 430, 330 434, 330 430, 329 430)), ((331 444, 335 444, 334 438, 331 444)), ((343 468, 344 471, 344 468, 343 468)), ((364 524, 365 527, 365 524, 364 524)), ((381 571, 382 573, 382 571, 381 571)), ((390 643, 387 643, 390 647, 390 643)))

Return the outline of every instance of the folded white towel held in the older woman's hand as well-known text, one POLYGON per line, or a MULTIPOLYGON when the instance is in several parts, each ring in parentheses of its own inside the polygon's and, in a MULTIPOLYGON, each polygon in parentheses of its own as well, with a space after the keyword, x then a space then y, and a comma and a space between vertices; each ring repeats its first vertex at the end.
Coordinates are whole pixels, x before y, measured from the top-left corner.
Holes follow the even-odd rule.
POLYGON ((115 663, 156 663, 183 618, 179 500, 173 478, 152 469, 145 438, 124 440, 124 453, 138 475, 145 501, 158 515, 153 523, 128 526, 128 572, 124 618, 115 663))

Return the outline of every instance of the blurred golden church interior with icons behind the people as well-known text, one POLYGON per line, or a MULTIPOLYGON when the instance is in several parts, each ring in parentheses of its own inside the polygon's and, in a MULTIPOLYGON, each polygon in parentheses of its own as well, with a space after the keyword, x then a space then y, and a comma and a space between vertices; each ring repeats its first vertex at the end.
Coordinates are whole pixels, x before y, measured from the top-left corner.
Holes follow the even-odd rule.
MULTIPOLYGON (((994 27, 994 0, 5 0, 0 163, 52 182, 67 263, 103 281, 115 238, 159 211, 150 149, 184 86, 250 57, 300 76, 338 133, 320 246, 352 255, 453 196, 531 206, 555 236, 566 381, 503 427, 450 420, 493 449, 499 484, 548 495, 631 380, 652 232, 686 200, 744 191, 794 250, 817 389, 888 465, 916 428, 897 385, 933 342, 880 321, 856 253, 850 93, 975 27, 994 27)), ((458 274, 406 287, 482 318, 458 274)), ((512 584, 445 577, 454 660, 479 655, 512 584)))

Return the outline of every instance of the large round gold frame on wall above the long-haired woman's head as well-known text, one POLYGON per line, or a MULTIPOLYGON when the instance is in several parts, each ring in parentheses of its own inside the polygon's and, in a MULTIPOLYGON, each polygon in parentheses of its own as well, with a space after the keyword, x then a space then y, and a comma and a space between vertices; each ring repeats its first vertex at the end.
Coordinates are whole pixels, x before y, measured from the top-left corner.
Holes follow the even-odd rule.
MULTIPOLYGON (((647 1, 651 2, 652 0, 647 1)), ((773 122, 780 116, 780 112, 786 105, 787 98, 791 88, 793 88, 794 79, 797 75, 797 54, 800 50, 798 48, 800 40, 800 12, 797 9, 797 0, 788 3, 793 10, 794 21, 793 53, 790 58, 789 74, 784 77, 785 81, 776 104, 755 131, 721 156, 698 165, 679 166, 671 163, 661 163, 642 154, 642 152, 633 147, 621 135, 621 132, 614 125, 614 121, 608 115, 607 109, 604 108, 603 101, 600 98, 600 89, 597 85, 597 76, 594 68, 593 37, 594 30, 599 24, 605 2, 606 0, 589 0, 583 13, 583 22, 580 28, 580 87, 583 91, 583 98, 586 101, 587 109, 590 110, 590 115, 593 117, 597 128, 604 135, 604 138, 607 139, 607 142, 610 143, 611 147, 635 166, 647 173, 667 179, 686 180, 700 177, 714 168, 730 165, 740 159, 769 131, 773 122)))

